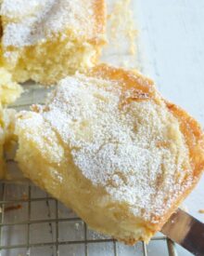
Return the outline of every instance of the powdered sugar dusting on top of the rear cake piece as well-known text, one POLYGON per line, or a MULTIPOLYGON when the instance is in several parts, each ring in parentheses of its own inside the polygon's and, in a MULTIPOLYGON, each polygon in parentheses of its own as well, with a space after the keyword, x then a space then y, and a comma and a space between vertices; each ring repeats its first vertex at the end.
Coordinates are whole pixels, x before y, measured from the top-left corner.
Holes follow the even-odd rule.
POLYGON ((6 19, 3 45, 31 46, 69 29, 78 35, 92 34, 92 4, 80 0, 4 0, 0 12, 6 19))

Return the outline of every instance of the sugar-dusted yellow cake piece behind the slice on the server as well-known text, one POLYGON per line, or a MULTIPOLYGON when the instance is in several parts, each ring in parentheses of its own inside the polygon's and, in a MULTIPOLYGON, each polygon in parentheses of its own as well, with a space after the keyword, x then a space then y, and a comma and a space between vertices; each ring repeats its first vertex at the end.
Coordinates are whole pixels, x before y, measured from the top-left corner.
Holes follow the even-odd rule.
POLYGON ((96 62, 106 41, 104 0, 1 2, 1 64, 15 81, 49 85, 96 62))

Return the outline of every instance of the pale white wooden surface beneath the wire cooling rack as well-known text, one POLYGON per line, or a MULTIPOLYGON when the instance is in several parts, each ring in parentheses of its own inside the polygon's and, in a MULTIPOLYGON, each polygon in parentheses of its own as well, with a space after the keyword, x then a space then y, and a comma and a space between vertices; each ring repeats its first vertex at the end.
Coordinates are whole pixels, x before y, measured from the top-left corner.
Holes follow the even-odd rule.
MULTIPOLYGON (((110 8, 113 2, 117 1, 108 0, 110 8)), ((139 30, 139 37, 136 41, 136 58, 128 54, 127 47, 120 47, 121 42, 118 47, 114 45, 114 42, 112 46, 105 48, 102 60, 130 67, 136 66, 144 74, 154 78, 163 96, 184 107, 204 125, 204 1, 132 0, 132 2, 136 28, 139 30)), ((124 37, 125 34, 121 36, 120 40, 124 40, 124 37)), ((33 89, 30 94, 32 97, 28 98, 28 95, 25 94, 18 103, 27 103, 28 99, 32 102, 36 99, 38 101, 43 100, 42 94, 38 90, 33 89)), ((19 107, 19 109, 21 108, 24 107, 19 107)), ((188 211, 202 222, 204 221, 204 214, 199 214, 198 209, 204 209, 203 184, 204 177, 199 182, 197 189, 185 201, 188 211)), ((18 198, 22 193, 27 193, 27 188, 26 186, 15 188, 13 185, 8 185, 7 191, 7 197, 16 196, 15 198, 18 198), (13 195, 14 190, 17 192, 16 195, 13 195)), ((41 192, 33 188, 33 196, 42 195, 41 192)), ((42 216, 49 218, 50 214, 55 211, 53 207, 52 203, 48 206, 43 203, 34 205, 32 207, 33 218, 42 218, 42 216)), ((67 216, 70 214, 69 212, 60 206, 59 214, 63 213, 64 216, 67 216)), ((24 207, 15 212, 15 218, 24 218, 23 216, 26 214, 27 207, 24 207)), ((12 218, 13 216, 8 215, 6 221, 12 221, 12 218)), ((6 229, 4 242, 7 242, 6 237, 9 237, 9 242, 12 239, 15 240, 15 243, 18 239, 23 241, 25 237, 21 237, 20 234, 25 234, 23 232, 25 227, 22 226, 21 228, 21 233, 18 229, 16 231, 6 229)), ((48 228, 50 227, 47 225, 41 226, 41 232, 38 234, 36 233, 37 229, 33 228, 32 233, 36 234, 37 238, 41 238, 42 242, 46 239, 52 241, 55 237, 50 230, 46 232, 48 228)), ((63 233, 63 229, 60 232, 62 232, 61 236, 63 237, 67 234, 66 231, 63 233)), ((90 248, 90 255, 111 255, 110 247, 110 244, 104 247, 96 244, 90 248)), ((121 256, 142 255, 141 245, 130 248, 120 244, 118 249, 121 256)), ((147 249, 149 255, 152 256, 168 255, 166 247, 159 241, 151 242, 147 249)), ((61 247, 59 250, 62 256, 83 255, 83 249, 80 246, 77 249, 61 247)), ((19 249, 18 253, 25 255, 25 251, 19 249)), ((180 256, 191 255, 180 248, 178 248, 178 252, 180 256)), ((2 255, 18 255, 15 253, 9 254, 5 251, 2 255)), ((47 247, 33 249, 31 255, 49 256, 52 253, 55 255, 54 250, 47 247)))

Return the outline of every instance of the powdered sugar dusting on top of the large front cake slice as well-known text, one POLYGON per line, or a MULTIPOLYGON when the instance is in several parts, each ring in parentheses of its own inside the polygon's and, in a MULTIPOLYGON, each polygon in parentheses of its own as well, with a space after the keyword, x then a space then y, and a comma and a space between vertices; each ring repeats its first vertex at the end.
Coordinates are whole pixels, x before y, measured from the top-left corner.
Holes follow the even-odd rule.
POLYGON ((59 83, 38 115, 70 148, 85 178, 134 215, 157 222, 154 217, 192 182, 188 151, 162 102, 132 101, 121 108, 123 96, 117 82, 78 74, 59 83))

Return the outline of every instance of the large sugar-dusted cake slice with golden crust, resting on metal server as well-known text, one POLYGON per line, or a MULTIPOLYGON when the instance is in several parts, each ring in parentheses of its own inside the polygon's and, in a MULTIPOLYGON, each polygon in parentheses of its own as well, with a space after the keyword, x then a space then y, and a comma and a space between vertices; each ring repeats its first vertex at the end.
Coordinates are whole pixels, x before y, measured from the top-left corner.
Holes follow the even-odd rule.
POLYGON ((26 177, 128 244, 160 230, 204 167, 197 121, 142 74, 107 65, 61 80, 17 115, 16 135, 26 177))

